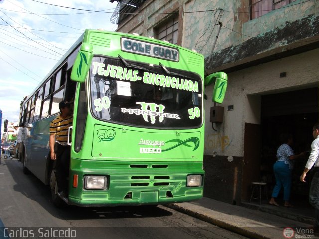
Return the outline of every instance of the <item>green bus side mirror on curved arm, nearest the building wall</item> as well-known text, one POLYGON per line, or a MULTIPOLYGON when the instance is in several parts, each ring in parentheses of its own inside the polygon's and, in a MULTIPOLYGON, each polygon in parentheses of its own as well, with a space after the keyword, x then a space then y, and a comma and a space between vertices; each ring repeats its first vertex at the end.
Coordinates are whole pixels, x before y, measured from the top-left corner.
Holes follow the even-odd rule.
POLYGON ((225 72, 216 72, 206 76, 204 79, 205 86, 215 82, 212 101, 222 103, 227 89, 227 74, 225 72))

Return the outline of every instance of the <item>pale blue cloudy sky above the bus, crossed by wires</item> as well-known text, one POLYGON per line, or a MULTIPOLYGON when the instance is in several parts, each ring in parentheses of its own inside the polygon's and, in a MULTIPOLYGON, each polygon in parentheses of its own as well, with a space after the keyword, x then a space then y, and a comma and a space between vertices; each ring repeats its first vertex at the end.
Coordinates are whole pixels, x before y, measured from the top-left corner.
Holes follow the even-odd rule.
POLYGON ((110 22, 116 6, 116 1, 109 0, 0 0, 2 118, 19 121, 23 97, 34 90, 84 29, 116 30, 117 25, 110 22))

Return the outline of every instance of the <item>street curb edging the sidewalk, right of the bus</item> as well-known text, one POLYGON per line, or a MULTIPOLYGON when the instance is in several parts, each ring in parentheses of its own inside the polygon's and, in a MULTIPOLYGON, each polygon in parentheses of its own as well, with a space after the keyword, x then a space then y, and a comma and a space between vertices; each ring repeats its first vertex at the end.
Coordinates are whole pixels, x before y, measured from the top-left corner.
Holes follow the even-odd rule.
POLYGON ((227 229, 229 231, 232 231, 234 233, 240 234, 242 236, 248 237, 248 238, 254 238, 254 239, 273 239, 273 238, 269 238, 265 235, 261 235, 260 233, 253 231, 251 229, 247 229, 245 227, 238 227, 232 224, 229 224, 227 222, 218 220, 216 218, 211 217, 210 215, 204 214, 204 213, 199 213, 199 212, 194 212, 192 210, 189 210, 188 208, 185 208, 179 204, 173 203, 173 204, 167 204, 165 205, 169 208, 175 209, 176 211, 185 213, 187 215, 190 215, 192 217, 198 218, 200 220, 203 220, 205 222, 214 224, 218 227, 227 229))

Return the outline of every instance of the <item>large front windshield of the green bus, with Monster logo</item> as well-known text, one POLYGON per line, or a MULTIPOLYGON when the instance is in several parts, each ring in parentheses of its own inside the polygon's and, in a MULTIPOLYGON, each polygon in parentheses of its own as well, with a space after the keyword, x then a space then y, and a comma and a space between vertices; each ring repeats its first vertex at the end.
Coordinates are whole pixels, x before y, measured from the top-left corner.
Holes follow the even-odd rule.
POLYGON ((90 95, 97 119, 147 128, 202 125, 199 75, 177 69, 169 75, 162 67, 145 63, 134 66, 117 58, 93 57, 90 95))

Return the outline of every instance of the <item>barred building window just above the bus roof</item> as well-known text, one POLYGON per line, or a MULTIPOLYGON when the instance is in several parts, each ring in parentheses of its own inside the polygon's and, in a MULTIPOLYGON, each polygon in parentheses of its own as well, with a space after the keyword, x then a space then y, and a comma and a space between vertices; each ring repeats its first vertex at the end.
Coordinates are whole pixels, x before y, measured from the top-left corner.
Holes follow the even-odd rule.
POLYGON ((178 38, 178 14, 169 18, 155 28, 156 38, 166 40, 172 44, 177 44, 178 38))

